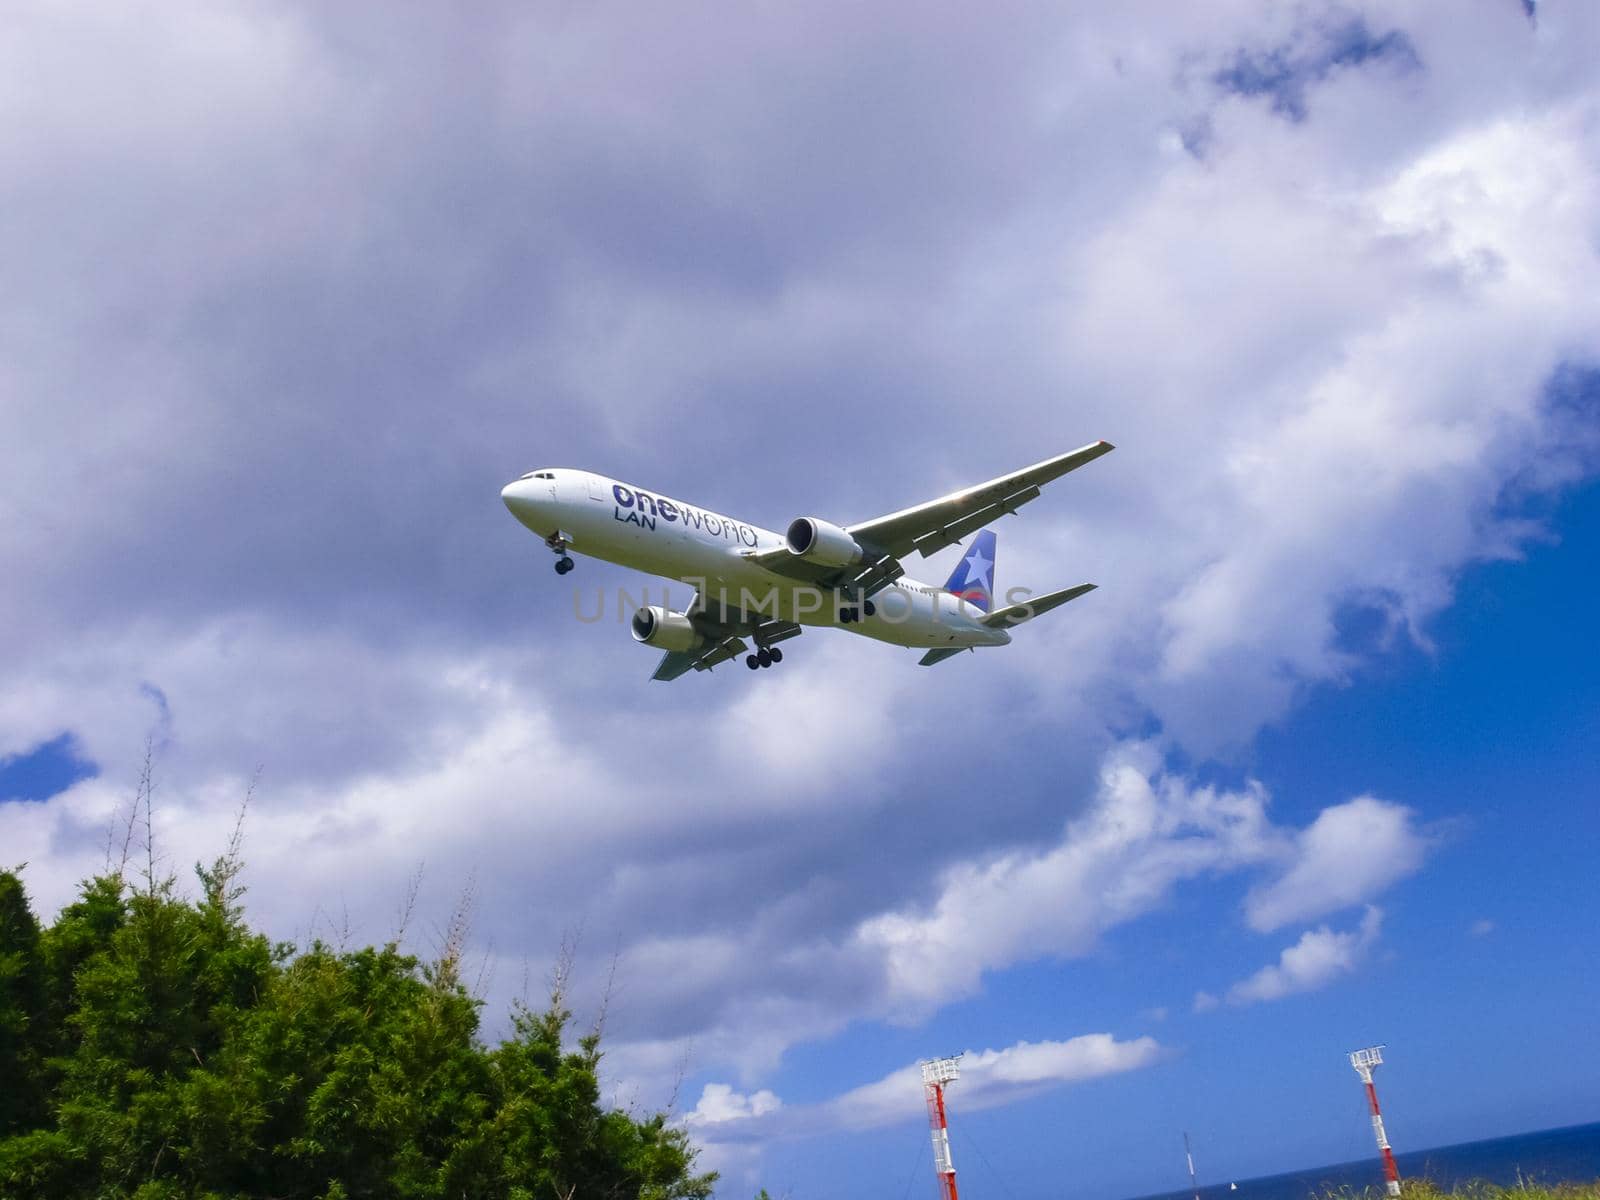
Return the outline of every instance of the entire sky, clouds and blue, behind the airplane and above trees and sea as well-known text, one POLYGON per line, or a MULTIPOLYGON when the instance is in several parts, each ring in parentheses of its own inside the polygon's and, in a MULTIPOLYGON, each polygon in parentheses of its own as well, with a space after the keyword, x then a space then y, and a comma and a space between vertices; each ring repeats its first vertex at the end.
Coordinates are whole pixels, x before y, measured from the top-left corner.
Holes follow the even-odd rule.
POLYGON ((918 1186, 960 1050, 957 1162, 1016 1195, 1181 1184, 1184 1128, 1216 1176, 1365 1154, 1370 1040, 1402 1149, 1600 1115, 1590 6, 0 22, 45 914, 147 739, 178 870, 258 781, 275 936, 386 938, 421 869, 427 954, 470 880, 490 1032, 614 952, 608 1085, 726 1195, 918 1186), (651 685, 573 618, 643 581, 499 504, 850 523, 1101 437, 997 568, 1099 590, 938 670, 808 634, 651 685))

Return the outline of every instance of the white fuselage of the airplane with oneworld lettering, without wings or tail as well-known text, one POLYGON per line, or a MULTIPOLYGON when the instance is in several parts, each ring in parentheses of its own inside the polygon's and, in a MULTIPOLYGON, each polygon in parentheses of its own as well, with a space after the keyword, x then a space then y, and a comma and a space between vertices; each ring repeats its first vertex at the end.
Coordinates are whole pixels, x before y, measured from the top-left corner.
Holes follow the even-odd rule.
POLYGON ((552 546, 677 579, 707 602, 752 616, 834 626, 898 646, 1000 646, 1011 640, 1005 629, 982 624, 984 611, 976 605, 909 576, 875 592, 870 613, 842 621, 848 597, 779 576, 749 557, 782 549, 782 534, 605 475, 530 470, 501 498, 518 522, 552 546))

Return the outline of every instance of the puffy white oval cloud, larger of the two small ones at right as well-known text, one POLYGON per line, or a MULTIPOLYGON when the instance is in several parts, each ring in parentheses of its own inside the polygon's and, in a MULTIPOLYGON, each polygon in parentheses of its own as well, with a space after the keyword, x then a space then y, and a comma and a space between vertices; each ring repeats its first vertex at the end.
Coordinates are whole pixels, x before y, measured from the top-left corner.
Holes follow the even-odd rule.
POLYGON ((1363 904, 1419 870, 1427 850, 1410 808, 1355 797, 1322 810, 1294 838, 1288 867, 1250 893, 1245 917, 1267 933, 1363 904))

